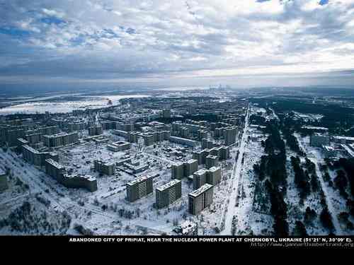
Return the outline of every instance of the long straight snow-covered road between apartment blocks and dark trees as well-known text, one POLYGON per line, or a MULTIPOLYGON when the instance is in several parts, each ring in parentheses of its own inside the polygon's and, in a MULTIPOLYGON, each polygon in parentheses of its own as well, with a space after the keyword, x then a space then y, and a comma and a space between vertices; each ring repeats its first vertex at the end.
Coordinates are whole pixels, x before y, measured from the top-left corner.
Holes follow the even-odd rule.
POLYGON ((229 204, 227 205, 227 210, 225 213, 225 223, 224 230, 222 230, 222 235, 232 235, 232 219, 235 216, 237 211, 236 199, 239 194, 239 180, 241 178, 241 168, 242 168, 242 158, 244 156, 245 146, 247 142, 247 134, 246 131, 249 127, 249 110, 247 109, 246 119, 244 124, 244 131, 242 132, 241 143, 239 147, 239 157, 234 165, 234 170, 232 171, 232 186, 231 186, 231 194, 229 196, 229 204))

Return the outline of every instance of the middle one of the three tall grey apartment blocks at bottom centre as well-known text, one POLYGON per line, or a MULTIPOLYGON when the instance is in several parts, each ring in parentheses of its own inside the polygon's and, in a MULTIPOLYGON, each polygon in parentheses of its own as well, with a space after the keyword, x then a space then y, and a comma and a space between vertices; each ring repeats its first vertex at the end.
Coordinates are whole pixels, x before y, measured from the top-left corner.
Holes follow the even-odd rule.
POLYGON ((156 189, 156 208, 164 208, 173 204, 182 196, 182 182, 173 179, 171 182, 164 184, 156 189))

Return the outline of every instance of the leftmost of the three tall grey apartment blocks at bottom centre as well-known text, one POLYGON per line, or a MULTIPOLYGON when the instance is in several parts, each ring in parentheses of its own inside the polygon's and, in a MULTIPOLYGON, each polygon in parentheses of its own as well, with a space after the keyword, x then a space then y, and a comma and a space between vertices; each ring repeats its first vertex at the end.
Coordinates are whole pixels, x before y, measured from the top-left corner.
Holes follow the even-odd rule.
POLYGON ((127 183, 127 201, 133 202, 152 193, 153 177, 139 177, 127 183))

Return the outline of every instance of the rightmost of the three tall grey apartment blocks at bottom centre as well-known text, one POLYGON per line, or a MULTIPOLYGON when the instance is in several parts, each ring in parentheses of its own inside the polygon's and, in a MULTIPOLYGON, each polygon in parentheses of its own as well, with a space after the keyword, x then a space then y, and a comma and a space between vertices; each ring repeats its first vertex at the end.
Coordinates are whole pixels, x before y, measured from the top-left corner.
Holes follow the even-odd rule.
POLYGON ((188 194, 188 211, 190 214, 197 215, 212 204, 213 189, 212 185, 204 184, 188 194))

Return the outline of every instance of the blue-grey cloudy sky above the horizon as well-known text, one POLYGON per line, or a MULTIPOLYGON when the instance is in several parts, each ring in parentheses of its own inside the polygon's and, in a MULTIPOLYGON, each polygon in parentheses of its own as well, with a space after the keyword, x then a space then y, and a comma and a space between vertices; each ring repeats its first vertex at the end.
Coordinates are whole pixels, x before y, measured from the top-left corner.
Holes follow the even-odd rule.
POLYGON ((354 0, 0 0, 0 88, 349 85, 354 0))

